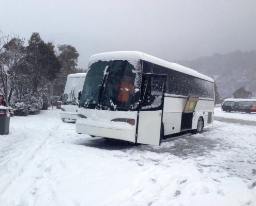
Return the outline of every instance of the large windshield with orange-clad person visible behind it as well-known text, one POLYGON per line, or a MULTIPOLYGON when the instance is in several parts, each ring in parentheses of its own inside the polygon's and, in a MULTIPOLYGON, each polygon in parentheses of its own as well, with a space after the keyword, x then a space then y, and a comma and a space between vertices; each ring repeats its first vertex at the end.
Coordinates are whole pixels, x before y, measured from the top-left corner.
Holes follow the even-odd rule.
POLYGON ((129 110, 133 104, 134 70, 127 60, 93 63, 84 82, 79 107, 129 110))

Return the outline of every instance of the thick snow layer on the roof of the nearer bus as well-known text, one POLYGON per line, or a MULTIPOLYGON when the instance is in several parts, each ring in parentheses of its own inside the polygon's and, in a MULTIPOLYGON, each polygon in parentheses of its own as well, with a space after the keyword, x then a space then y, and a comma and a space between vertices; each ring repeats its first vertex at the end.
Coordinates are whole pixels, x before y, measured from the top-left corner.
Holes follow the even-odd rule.
POLYGON ((153 57, 151 55, 147 55, 145 53, 142 52, 108 52, 108 53, 101 53, 101 54, 96 54, 93 55, 90 59, 89 59, 89 66, 94 63, 97 62, 99 60, 101 61, 111 61, 111 60, 127 60, 129 61, 133 66, 136 65, 136 63, 138 62, 138 60, 144 60, 147 62, 151 62, 154 64, 158 64, 167 68, 171 68, 172 70, 178 71, 178 72, 182 72, 191 76, 195 76, 201 79, 205 79, 207 81, 211 81, 214 82, 214 80, 206 75, 203 75, 195 70, 192 70, 192 68, 188 68, 186 66, 182 66, 179 65, 177 63, 171 63, 162 59, 159 59, 157 57, 153 57), (134 61, 135 60, 135 61, 134 61))

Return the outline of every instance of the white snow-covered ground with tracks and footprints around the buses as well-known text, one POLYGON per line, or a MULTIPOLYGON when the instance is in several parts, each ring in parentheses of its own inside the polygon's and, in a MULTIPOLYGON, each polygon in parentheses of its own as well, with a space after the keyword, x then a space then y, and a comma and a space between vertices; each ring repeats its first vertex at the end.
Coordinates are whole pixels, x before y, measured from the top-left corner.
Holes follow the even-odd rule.
POLYGON ((0 205, 256 205, 255 147, 255 126, 219 121, 133 146, 77 134, 57 109, 14 116, 0 135, 0 205))

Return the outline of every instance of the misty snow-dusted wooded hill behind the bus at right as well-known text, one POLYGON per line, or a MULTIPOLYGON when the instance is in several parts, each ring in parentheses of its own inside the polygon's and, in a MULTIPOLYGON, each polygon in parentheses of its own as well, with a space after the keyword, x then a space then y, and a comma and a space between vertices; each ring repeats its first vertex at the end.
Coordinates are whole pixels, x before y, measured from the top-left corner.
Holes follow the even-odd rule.
POLYGON ((223 98, 233 97, 240 87, 245 87, 252 96, 256 96, 256 50, 237 50, 225 55, 214 54, 212 57, 175 62, 212 77, 223 98))

